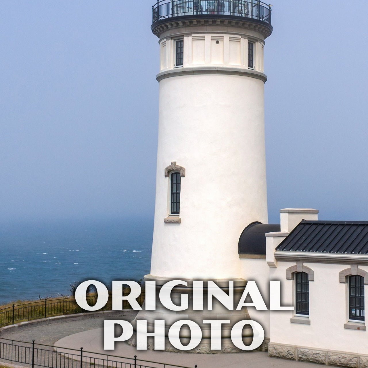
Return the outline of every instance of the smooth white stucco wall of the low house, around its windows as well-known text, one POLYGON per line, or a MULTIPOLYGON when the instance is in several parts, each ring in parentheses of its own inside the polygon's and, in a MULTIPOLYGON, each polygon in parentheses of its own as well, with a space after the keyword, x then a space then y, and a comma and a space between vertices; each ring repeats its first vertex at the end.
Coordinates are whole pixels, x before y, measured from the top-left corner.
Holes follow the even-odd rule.
MULTIPOLYGON (((283 280, 284 305, 295 305, 294 281, 286 280, 286 269, 294 265, 295 262, 277 262, 277 268, 270 268, 270 279, 283 280)), ((314 281, 309 281, 310 325, 291 323, 293 311, 271 311, 270 342, 318 350, 367 354, 368 332, 344 328, 344 324, 348 321, 348 284, 339 282, 339 273, 350 265, 330 263, 303 263, 303 265, 314 270, 314 281)), ((368 272, 368 266, 359 268, 368 272)), ((368 305, 367 286, 365 286, 365 305, 368 305)))

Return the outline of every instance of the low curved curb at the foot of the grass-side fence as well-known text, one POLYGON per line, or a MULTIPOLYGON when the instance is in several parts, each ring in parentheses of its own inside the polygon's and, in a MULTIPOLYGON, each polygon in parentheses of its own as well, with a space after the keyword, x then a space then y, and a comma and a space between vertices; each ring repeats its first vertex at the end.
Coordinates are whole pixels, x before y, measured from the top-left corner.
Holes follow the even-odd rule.
POLYGON ((55 317, 47 317, 47 318, 41 318, 41 319, 34 319, 33 321, 25 321, 25 322, 19 322, 15 323, 14 325, 9 325, 5 327, 0 328, 0 336, 3 335, 3 333, 8 332, 14 332, 16 330, 29 327, 29 326, 43 326, 43 325, 51 325, 52 323, 59 323, 61 321, 64 321, 65 319, 68 320, 80 320, 80 319, 86 319, 86 318, 96 318, 103 315, 106 315, 106 317, 114 317, 114 316, 121 316, 124 311, 133 311, 133 309, 123 309, 122 311, 102 311, 102 312, 87 312, 87 313, 76 313, 76 314, 67 314, 63 316, 55 316, 55 317))

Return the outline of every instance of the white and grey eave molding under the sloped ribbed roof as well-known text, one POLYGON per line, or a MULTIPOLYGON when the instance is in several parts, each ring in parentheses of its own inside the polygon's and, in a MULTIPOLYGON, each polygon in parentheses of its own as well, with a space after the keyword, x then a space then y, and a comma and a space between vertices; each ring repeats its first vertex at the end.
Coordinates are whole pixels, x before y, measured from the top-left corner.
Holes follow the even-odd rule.
POLYGON ((332 254, 332 253, 314 253, 314 252, 292 252, 292 251, 276 251, 275 258, 277 261, 284 262, 308 262, 308 263, 335 263, 348 264, 359 263, 360 265, 368 265, 367 254, 332 254))

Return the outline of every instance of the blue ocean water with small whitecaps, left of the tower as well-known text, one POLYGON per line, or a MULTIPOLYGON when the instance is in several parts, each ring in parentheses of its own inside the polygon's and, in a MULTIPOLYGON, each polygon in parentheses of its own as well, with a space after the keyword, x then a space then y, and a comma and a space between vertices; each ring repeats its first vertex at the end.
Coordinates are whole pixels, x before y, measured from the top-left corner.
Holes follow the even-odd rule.
POLYGON ((0 225, 0 304, 70 295, 70 284, 149 273, 153 219, 0 225))

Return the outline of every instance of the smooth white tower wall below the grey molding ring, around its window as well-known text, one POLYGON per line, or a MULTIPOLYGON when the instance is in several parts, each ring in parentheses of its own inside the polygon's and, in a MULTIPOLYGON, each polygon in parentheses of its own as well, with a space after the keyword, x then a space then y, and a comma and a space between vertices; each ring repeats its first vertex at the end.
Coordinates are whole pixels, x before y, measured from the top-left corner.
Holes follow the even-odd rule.
POLYGON ((241 277, 239 236, 253 221, 267 223, 263 90, 243 75, 160 81, 151 275, 241 277), (181 223, 164 223, 172 161, 185 168, 181 223))

